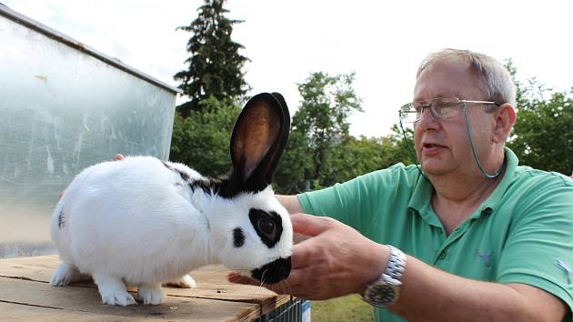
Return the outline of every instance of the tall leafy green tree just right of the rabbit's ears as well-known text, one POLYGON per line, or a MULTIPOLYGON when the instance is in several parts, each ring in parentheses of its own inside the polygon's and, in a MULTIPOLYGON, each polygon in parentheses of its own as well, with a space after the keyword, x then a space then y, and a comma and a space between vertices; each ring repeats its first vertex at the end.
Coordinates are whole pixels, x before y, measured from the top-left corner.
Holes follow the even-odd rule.
MULTIPOLYGON (((362 111, 354 92, 354 74, 330 76, 311 73, 298 85, 302 103, 293 116, 291 137, 284 158, 296 162, 277 176, 290 181, 291 190, 326 186, 332 152, 349 139, 347 117, 362 111)), ((288 161, 284 162, 285 164, 288 161)), ((284 182, 284 181, 283 181, 284 182)))

